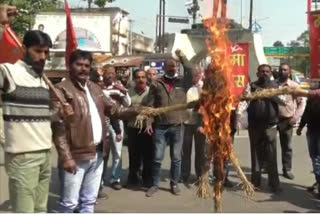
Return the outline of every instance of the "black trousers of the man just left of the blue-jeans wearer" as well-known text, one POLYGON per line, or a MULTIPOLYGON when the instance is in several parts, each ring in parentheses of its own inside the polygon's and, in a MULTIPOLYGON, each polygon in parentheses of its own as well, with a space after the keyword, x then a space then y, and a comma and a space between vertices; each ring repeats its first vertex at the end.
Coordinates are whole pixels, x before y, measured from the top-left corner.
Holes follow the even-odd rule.
POLYGON ((152 185, 152 160, 153 143, 152 136, 139 133, 140 130, 128 127, 129 147, 129 176, 128 183, 137 184, 142 165, 142 180, 144 185, 152 185))

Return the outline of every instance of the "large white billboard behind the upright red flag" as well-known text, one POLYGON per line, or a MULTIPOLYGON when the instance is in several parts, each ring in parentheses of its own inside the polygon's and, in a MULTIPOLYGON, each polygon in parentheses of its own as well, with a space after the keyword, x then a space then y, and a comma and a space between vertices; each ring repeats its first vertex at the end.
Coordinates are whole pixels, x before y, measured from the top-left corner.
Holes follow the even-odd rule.
MULTIPOLYGON (((72 13, 71 17, 79 48, 88 51, 111 52, 111 17, 109 15, 72 13)), ((38 14, 33 29, 49 34, 54 49, 65 49, 65 13, 38 14)))

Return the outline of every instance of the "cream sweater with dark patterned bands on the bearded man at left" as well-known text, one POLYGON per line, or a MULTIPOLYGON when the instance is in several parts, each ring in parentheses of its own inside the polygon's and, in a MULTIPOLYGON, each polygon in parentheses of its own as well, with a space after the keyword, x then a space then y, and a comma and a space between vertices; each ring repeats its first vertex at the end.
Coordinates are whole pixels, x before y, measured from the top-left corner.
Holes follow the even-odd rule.
POLYGON ((19 60, 0 65, 3 99, 4 149, 24 153, 51 148, 50 94, 42 77, 19 60))

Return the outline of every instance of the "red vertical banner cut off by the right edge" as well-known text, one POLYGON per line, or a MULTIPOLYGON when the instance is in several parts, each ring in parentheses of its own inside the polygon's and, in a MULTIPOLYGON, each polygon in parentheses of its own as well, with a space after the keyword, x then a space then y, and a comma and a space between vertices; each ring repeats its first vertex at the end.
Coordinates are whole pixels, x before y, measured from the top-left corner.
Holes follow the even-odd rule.
POLYGON ((320 11, 313 11, 309 15, 311 78, 320 77, 320 11))

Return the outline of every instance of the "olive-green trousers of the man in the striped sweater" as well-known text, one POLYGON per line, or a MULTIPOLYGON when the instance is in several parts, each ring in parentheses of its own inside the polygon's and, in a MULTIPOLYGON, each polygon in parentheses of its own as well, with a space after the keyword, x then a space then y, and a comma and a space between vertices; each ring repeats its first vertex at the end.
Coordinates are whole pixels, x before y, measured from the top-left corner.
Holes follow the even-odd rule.
POLYGON ((5 154, 14 213, 47 212, 51 178, 50 150, 5 154))

